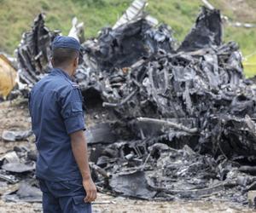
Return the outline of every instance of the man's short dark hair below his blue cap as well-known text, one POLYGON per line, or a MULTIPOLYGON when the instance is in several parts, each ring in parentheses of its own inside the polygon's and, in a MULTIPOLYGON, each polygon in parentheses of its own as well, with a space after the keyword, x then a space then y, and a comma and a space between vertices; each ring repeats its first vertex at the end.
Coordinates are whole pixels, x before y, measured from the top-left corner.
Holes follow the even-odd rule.
POLYGON ((67 66, 77 57, 79 52, 76 49, 56 48, 52 51, 53 66, 67 66))

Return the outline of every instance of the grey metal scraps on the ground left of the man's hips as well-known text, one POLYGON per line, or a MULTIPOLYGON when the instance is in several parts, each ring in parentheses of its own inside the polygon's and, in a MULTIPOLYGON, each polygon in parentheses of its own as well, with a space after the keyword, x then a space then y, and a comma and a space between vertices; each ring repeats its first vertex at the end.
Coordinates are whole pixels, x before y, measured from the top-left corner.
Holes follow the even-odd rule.
POLYGON ((35 183, 36 163, 26 147, 14 150, 0 158, 0 183, 4 182, 2 199, 13 202, 41 202, 42 193, 35 183))

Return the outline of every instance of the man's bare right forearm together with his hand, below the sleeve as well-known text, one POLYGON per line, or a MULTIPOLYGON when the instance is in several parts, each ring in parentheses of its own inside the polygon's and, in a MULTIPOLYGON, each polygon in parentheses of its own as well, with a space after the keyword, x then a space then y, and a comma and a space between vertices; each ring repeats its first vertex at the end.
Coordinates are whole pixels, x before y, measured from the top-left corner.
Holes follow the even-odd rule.
POLYGON ((97 189, 91 180, 90 168, 88 163, 87 144, 85 141, 84 131, 79 130, 70 135, 71 147, 74 158, 79 165, 81 176, 83 177, 83 186, 86 192, 84 202, 94 201, 97 197, 97 189))

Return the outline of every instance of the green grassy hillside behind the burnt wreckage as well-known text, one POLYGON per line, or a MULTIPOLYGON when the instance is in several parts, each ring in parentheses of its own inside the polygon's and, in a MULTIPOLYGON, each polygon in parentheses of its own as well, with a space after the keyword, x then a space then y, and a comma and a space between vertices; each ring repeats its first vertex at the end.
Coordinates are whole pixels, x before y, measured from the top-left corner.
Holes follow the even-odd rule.
MULTIPOLYGON (((22 32, 32 26, 35 16, 44 12, 49 29, 60 29, 67 35, 73 16, 84 21, 85 37, 95 37, 103 26, 113 26, 127 9, 131 0, 0 0, 0 51, 13 54, 20 43, 22 32)), ((229 1, 210 0, 232 20, 252 22, 256 20, 256 1, 246 0, 238 11, 230 9, 229 1)), ((172 26, 174 37, 180 42, 193 26, 200 12, 201 0, 148 0, 148 13, 172 26)), ((231 5, 234 8, 234 5, 231 5)), ((236 6, 236 5, 235 5, 236 6)), ((255 51, 256 28, 244 29, 224 26, 224 41, 235 40, 240 44, 243 55, 255 51)), ((252 59, 256 63, 256 59, 252 59)), ((256 74, 253 67, 247 68, 247 75, 256 74)))

